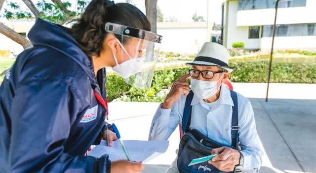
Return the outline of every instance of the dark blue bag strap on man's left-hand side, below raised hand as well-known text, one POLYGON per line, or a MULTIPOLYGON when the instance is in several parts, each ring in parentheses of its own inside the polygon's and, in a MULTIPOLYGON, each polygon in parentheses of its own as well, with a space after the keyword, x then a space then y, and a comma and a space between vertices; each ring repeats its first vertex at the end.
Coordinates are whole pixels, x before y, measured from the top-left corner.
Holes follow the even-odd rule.
POLYGON ((186 98, 186 103, 184 105, 184 111, 183 111, 182 123, 181 123, 181 128, 182 128, 183 133, 190 130, 190 124, 191 124, 190 121, 191 121, 191 112, 192 112, 191 102, 193 99, 193 95, 194 95, 193 91, 190 90, 186 98))

